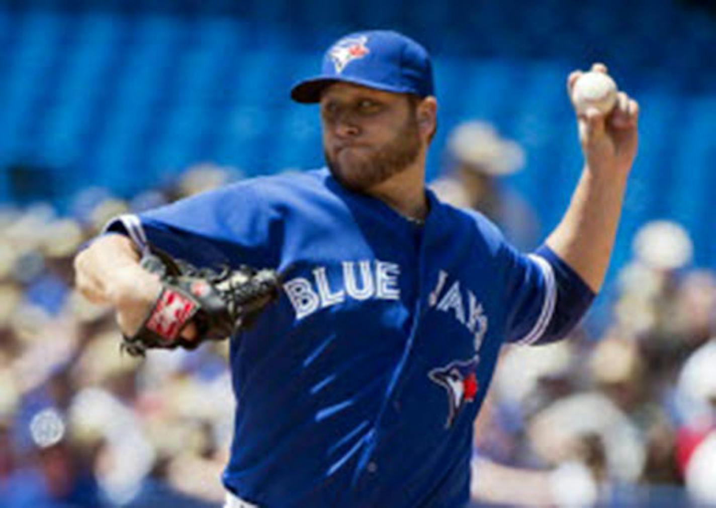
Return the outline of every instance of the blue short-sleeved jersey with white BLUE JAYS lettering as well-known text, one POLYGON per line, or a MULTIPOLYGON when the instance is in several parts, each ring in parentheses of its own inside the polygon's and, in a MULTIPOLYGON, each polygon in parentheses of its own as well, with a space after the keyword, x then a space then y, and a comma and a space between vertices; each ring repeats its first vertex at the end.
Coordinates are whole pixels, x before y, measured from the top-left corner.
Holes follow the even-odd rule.
MULTIPOLYGON (((456 507, 504 342, 555 337, 553 263, 427 191, 417 225, 326 169, 243 181, 110 230, 286 272, 231 340, 226 488, 261 507, 456 507)), ((565 326, 561 326, 564 328, 565 326)))

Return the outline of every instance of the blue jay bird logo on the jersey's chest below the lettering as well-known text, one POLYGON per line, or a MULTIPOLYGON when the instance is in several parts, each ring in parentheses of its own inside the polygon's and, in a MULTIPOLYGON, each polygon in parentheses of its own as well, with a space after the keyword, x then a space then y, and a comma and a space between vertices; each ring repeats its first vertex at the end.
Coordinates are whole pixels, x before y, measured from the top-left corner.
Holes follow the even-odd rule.
POLYGON ((458 417, 460 410, 465 407, 468 402, 474 402, 475 396, 478 394, 478 378, 477 372, 480 357, 475 356, 473 359, 465 362, 450 362, 445 367, 438 367, 428 372, 427 377, 448 392, 448 421, 445 422, 445 428, 449 429, 453 426, 455 418, 458 417))

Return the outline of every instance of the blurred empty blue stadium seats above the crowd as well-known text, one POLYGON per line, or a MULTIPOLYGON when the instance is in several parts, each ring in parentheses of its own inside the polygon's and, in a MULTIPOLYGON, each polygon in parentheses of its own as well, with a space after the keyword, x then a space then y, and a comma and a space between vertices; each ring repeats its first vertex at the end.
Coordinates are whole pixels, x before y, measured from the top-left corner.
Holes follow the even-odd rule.
MULTIPOLYGON (((563 91, 570 69, 605 59, 642 103, 642 149, 623 231, 655 217, 697 237, 716 265, 710 169, 716 22, 672 0, 334 2, 28 0, 0 6, 0 168, 49 167, 58 204, 88 184, 120 195, 199 161, 248 174, 320 164, 315 110, 288 101, 334 36, 392 26, 435 54, 440 171, 450 127, 481 118, 525 147, 511 177, 544 228, 581 164, 563 91)), ((0 169, 0 199, 11 201, 0 169)), ((627 236, 626 234, 624 236, 627 236)), ((628 249, 626 249, 628 251, 628 249)), ((626 255, 626 254, 625 254, 626 255)))

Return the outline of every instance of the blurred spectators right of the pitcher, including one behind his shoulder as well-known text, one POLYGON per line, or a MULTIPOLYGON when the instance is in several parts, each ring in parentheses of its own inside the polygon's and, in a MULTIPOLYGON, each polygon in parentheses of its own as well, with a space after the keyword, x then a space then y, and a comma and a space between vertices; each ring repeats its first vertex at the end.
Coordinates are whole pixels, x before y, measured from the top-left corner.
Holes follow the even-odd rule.
MULTIPOLYGON (((458 126, 448 146, 438 194, 533 245, 531 214, 501 178, 521 169, 520 147, 482 122, 458 126)), ((475 497, 716 505, 716 276, 692 254, 679 224, 644 224, 610 292, 609 322, 505 347, 475 424, 475 497)))

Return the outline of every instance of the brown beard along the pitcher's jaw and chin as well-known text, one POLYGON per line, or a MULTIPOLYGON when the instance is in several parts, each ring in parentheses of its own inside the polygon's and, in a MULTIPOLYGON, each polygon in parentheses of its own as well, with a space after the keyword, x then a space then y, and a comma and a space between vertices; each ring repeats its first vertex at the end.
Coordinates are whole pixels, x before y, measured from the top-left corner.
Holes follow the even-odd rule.
POLYGON ((347 189, 364 192, 402 173, 420 154, 420 132, 415 112, 390 141, 373 149, 367 156, 339 162, 324 149, 324 157, 331 174, 347 189))

